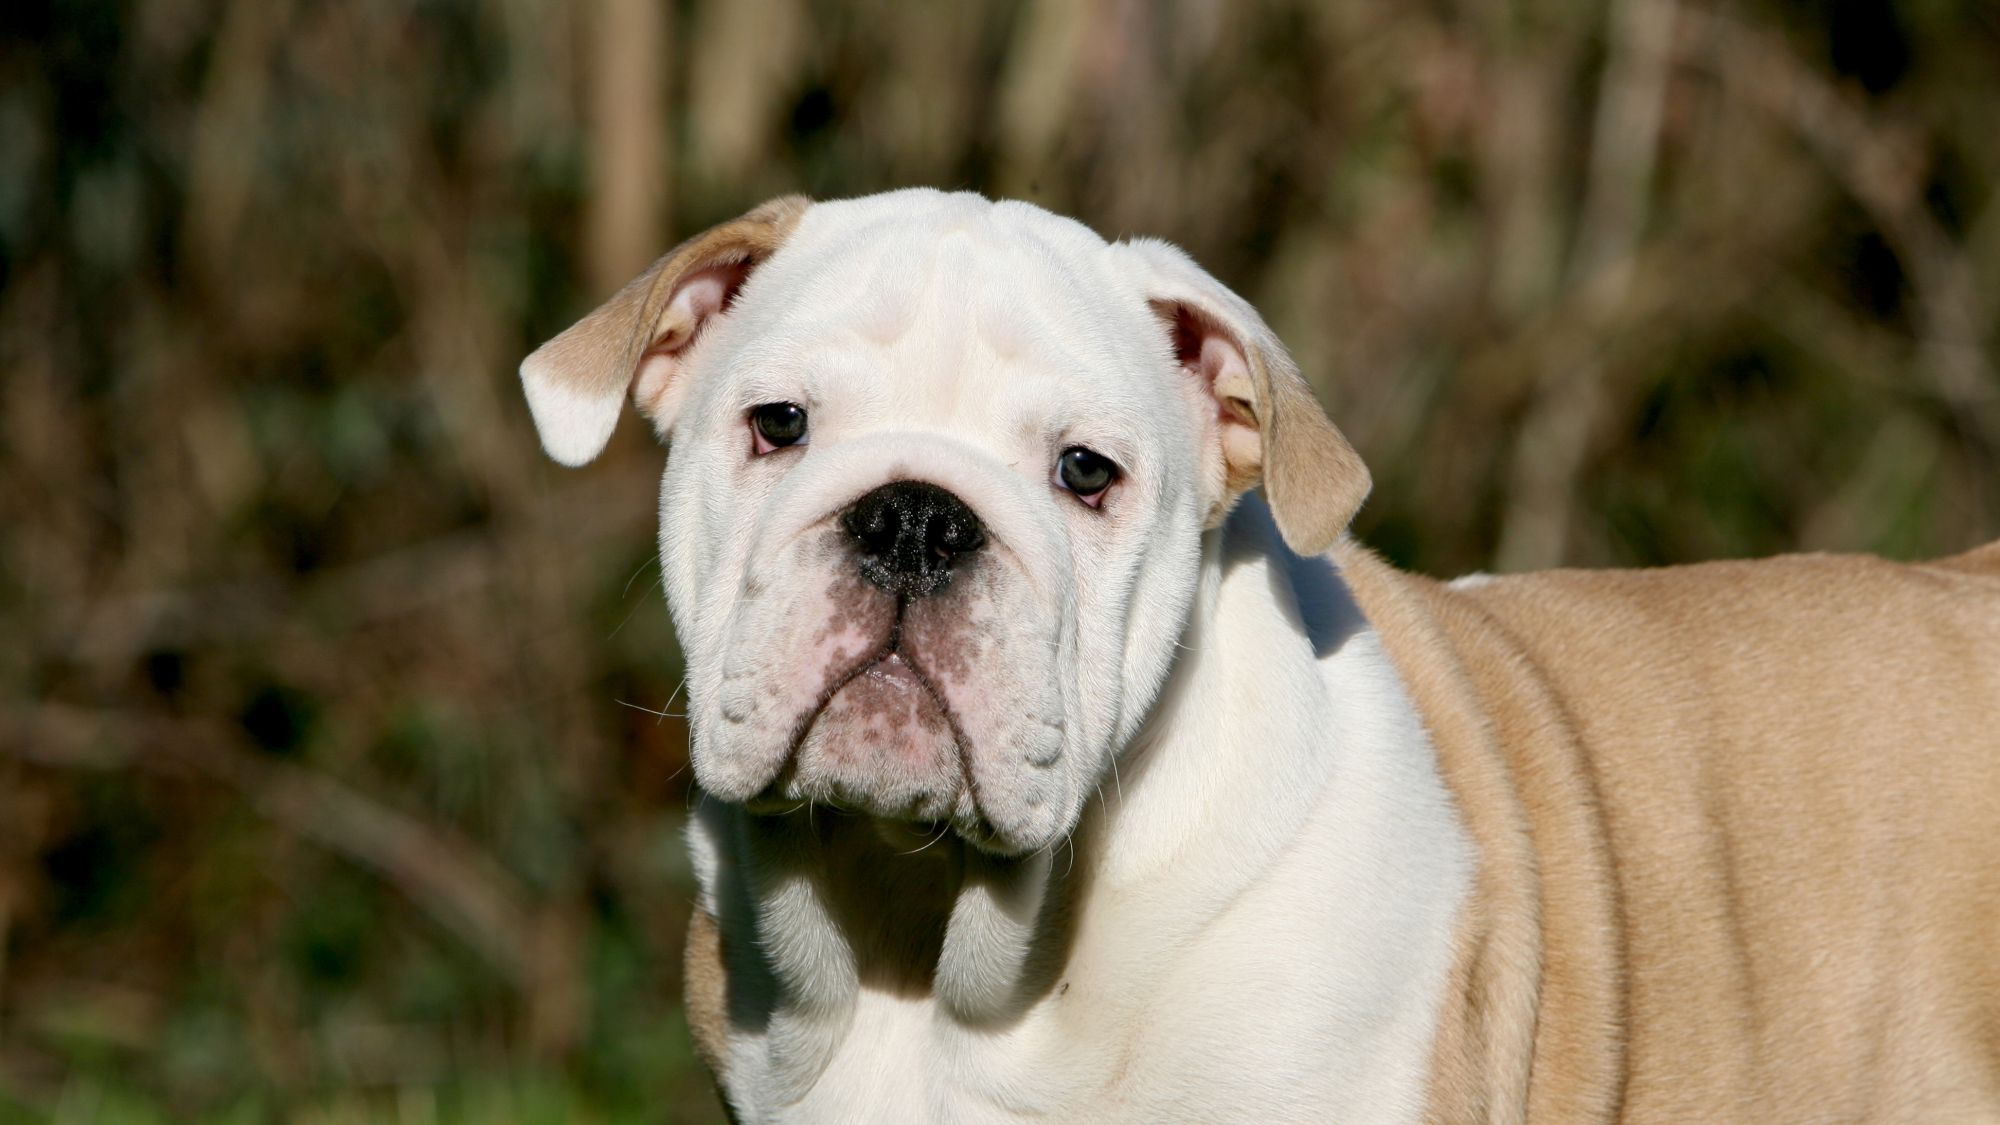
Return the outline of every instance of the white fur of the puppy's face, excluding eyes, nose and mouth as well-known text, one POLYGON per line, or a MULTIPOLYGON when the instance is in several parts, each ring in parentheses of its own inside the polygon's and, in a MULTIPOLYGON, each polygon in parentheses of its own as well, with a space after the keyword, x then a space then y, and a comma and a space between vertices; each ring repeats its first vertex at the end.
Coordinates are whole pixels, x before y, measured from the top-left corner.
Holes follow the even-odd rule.
POLYGON ((704 789, 776 777, 842 641, 822 637, 848 609, 828 581, 852 565, 822 540, 862 492, 918 478, 990 532, 984 667, 950 701, 990 847, 1076 823, 1174 655, 1204 510, 1202 418, 1142 282, 1074 222, 942 194, 818 204, 750 276, 666 420, 660 548, 704 789), (744 412, 776 400, 812 440, 748 458, 744 412), (1124 466, 1098 510, 1050 484, 1070 444, 1124 466))

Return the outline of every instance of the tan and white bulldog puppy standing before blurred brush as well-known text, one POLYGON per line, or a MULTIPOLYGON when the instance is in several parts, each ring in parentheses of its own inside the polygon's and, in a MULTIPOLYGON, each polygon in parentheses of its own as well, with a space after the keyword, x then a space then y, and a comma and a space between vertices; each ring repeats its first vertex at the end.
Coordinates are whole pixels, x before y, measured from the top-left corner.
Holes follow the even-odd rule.
POLYGON ((974 194, 772 200, 520 374, 670 446, 736 1119, 2000 1121, 2000 544, 1396 573, 1250 304, 974 194))

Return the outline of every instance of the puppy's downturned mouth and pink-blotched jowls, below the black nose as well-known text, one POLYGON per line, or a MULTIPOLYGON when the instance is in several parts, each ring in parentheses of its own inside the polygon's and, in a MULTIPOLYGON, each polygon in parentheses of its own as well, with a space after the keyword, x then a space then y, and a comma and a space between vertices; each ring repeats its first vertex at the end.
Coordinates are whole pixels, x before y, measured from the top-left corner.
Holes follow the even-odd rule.
POLYGON ((1060 607, 998 540, 948 585, 898 595, 858 573, 844 534, 798 540, 794 581, 746 585, 698 701, 696 781, 758 817, 850 813, 924 839, 942 825, 958 841, 940 851, 996 857, 1044 847, 1078 807, 1060 607))

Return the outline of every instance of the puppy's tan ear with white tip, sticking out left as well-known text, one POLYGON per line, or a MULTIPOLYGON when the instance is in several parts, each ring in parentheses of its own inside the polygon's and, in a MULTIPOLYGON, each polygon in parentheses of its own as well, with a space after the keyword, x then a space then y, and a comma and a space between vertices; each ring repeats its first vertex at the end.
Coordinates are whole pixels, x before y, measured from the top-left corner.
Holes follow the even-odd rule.
POLYGON ((674 376, 708 318, 770 258, 812 206, 774 198, 672 248, 610 300, 520 362, 542 448, 562 464, 604 450, 626 390, 664 434, 686 386, 674 376))

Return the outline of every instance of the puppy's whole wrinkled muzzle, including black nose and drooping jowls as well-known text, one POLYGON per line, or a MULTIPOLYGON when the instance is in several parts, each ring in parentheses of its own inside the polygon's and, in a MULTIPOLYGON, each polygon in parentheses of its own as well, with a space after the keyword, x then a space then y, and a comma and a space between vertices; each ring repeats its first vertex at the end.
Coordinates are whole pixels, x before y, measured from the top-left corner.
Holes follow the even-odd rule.
POLYGON ((898 458, 832 504, 774 500, 694 701, 702 789, 946 823, 1000 855, 1068 829, 1074 629, 1030 579, 1048 530, 992 480, 898 458))

